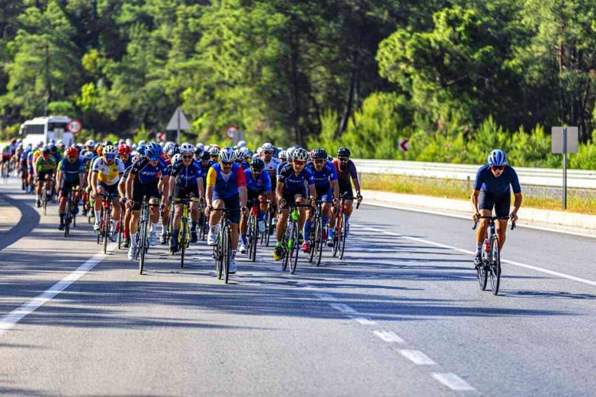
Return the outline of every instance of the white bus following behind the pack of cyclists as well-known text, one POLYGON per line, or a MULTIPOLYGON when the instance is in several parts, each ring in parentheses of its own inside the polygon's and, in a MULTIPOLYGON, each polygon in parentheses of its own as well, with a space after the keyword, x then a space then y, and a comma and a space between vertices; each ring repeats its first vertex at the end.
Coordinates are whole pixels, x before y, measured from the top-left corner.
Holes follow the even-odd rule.
POLYGON ((55 143, 62 140, 68 147, 75 143, 73 133, 66 131, 66 125, 70 122, 69 116, 36 117, 21 124, 18 133, 25 146, 29 143, 35 146, 39 142, 47 144, 52 140, 55 143))

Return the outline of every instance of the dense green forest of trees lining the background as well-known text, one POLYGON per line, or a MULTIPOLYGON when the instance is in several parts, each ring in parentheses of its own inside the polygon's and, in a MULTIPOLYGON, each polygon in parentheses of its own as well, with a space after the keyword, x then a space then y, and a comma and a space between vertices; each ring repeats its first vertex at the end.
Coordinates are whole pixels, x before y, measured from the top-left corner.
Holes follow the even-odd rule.
POLYGON ((596 0, 0 3, 5 133, 43 114, 155 133, 180 105, 193 140, 238 125, 254 143, 436 161, 451 142, 465 162, 483 133, 536 151, 578 125, 590 150, 596 127, 596 0))

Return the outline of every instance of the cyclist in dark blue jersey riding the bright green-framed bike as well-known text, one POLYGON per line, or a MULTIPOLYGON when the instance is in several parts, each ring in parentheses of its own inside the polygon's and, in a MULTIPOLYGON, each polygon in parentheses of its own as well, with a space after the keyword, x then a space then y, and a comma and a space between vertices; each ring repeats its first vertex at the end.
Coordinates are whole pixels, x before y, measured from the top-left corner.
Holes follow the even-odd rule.
MULTIPOLYGON (((289 206, 295 204, 305 204, 308 195, 312 199, 316 199, 316 190, 314 188, 314 178, 312 172, 306 168, 306 161, 308 160, 308 152, 302 148, 297 148, 292 152, 292 164, 283 166, 280 174, 277 175, 277 186, 275 188, 275 195, 277 196, 277 203, 282 207, 280 212, 280 219, 275 227, 277 244, 275 244, 275 251, 273 258, 279 261, 282 259, 282 238, 286 232, 286 221, 289 215, 289 206), (308 185, 308 190, 306 186, 308 185)), ((304 207, 299 207, 298 211, 298 244, 303 243, 302 228, 306 220, 306 212, 304 207)))

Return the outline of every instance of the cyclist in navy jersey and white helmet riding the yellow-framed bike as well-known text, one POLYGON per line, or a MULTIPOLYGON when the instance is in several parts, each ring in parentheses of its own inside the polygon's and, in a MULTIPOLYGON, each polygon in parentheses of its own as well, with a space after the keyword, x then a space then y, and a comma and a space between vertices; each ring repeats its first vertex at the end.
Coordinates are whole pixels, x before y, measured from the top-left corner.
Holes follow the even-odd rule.
MULTIPOLYGON (((195 148, 192 144, 183 143, 180 146, 181 160, 172 164, 169 181, 169 197, 175 199, 196 199, 201 201, 203 196, 203 170, 201 164, 195 160, 195 148)), ((174 225, 172 227, 171 250, 178 251, 178 233, 182 219, 183 203, 175 203, 174 225)), ((197 222, 199 220, 199 203, 190 203, 190 242, 197 242, 197 222)))

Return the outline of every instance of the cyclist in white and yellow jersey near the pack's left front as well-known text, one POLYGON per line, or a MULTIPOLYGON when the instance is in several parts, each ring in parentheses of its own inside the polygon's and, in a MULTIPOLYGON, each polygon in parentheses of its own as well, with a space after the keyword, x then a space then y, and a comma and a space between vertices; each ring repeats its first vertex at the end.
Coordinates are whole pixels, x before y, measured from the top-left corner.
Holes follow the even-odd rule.
MULTIPOLYGON (((91 189, 95 197, 95 223, 93 229, 99 231, 101 226, 101 205, 103 205, 103 194, 118 194, 118 181, 124 173, 124 164, 116 157, 116 148, 106 145, 101 148, 101 157, 97 157, 91 166, 91 189)), ((116 241, 116 223, 120 220, 120 201, 112 199, 112 241, 116 241)), ((105 236, 107 238, 107 236, 105 236)))

